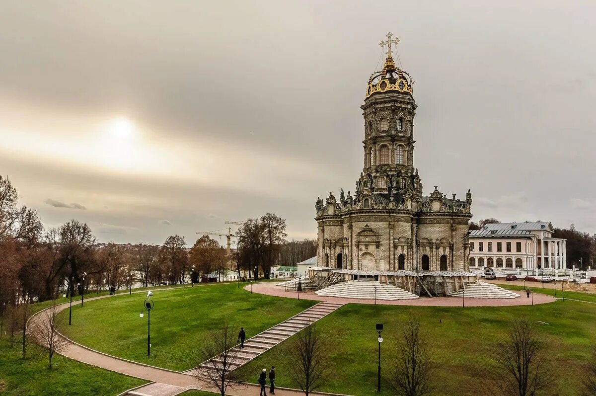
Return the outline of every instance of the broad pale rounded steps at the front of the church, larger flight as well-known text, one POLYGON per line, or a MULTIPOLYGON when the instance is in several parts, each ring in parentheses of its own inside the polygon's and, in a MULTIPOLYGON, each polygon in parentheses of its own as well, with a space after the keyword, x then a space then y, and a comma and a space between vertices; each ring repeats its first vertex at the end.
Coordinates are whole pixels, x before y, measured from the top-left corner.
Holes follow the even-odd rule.
POLYGON ((319 296, 355 298, 355 299, 374 299, 378 300, 411 300, 418 298, 417 295, 403 290, 391 284, 381 284, 370 281, 349 281, 332 284, 325 289, 317 290, 315 293, 319 296))

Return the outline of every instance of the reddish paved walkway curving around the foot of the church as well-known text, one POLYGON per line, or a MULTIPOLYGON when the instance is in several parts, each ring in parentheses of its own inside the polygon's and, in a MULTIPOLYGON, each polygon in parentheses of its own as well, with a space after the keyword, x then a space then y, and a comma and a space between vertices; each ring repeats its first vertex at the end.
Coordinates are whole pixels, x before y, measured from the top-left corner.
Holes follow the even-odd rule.
MULTIPOLYGON (((244 287, 248 289, 249 286, 244 287)), ((526 298, 526 293, 511 290, 520 295, 516 299, 500 299, 500 298, 466 298, 465 307, 507 307, 509 305, 532 305, 532 299, 526 298), (523 294, 523 295, 522 295, 523 294)), ((275 286, 275 283, 257 283, 253 284, 253 293, 266 294, 269 296, 279 296, 287 298, 298 298, 296 291, 286 292, 284 287, 275 286)), ((335 304, 374 304, 372 299, 353 299, 319 296, 315 292, 300 292, 300 298, 306 300, 316 300, 333 302, 335 304)), ((552 296, 545 294, 534 294, 534 304, 546 304, 547 302, 557 301, 552 296)), ((424 307, 461 307, 463 300, 457 297, 421 297, 413 300, 377 300, 377 304, 382 305, 418 305, 424 307)))

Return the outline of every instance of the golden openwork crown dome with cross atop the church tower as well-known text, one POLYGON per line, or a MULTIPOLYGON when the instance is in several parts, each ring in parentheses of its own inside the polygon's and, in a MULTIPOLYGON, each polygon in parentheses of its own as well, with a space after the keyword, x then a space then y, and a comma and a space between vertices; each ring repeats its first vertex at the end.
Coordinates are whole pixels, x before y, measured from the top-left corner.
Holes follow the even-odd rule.
POLYGON ((412 79, 408 73, 395 66, 391 55, 391 45, 398 44, 398 39, 391 39, 391 32, 387 33, 387 41, 381 41, 381 47, 387 45, 387 58, 383 70, 374 72, 368 79, 366 97, 376 92, 398 91, 412 94, 412 79))

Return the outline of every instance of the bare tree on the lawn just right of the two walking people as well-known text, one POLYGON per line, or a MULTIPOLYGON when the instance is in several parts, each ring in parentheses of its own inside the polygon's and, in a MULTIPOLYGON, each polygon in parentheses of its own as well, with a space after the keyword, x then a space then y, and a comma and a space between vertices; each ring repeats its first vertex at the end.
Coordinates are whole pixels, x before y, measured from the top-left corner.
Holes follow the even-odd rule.
POLYGON ((315 324, 300 330, 295 337, 290 347, 294 361, 288 375, 294 384, 308 396, 325 379, 327 363, 324 359, 323 344, 315 324))

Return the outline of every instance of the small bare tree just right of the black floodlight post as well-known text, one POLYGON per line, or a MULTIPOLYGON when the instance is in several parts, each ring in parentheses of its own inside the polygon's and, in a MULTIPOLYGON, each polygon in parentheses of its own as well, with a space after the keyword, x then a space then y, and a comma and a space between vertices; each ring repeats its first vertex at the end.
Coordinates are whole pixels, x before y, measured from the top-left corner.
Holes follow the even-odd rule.
POLYGON ((395 352, 390 354, 387 383, 395 394, 425 396, 433 392, 430 352, 420 331, 420 323, 410 318, 403 327, 395 352))

